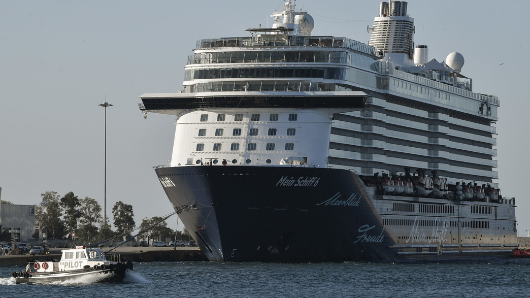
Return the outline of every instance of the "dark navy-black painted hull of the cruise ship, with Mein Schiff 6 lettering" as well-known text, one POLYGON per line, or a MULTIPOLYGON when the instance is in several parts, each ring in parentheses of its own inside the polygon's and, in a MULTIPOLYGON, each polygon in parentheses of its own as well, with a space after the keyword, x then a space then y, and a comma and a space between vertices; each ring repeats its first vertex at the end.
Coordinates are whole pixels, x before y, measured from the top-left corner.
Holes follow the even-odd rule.
POLYGON ((404 253, 384 229, 373 192, 347 170, 179 166, 156 173, 210 260, 472 259, 511 252, 404 253))

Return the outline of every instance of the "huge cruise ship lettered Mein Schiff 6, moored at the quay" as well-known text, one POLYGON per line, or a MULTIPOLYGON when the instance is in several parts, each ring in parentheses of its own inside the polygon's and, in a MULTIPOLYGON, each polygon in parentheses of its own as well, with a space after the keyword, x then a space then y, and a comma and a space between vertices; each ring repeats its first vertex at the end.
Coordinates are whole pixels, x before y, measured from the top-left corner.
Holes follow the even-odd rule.
POLYGON ((287 0, 271 28, 199 40, 184 90, 140 95, 144 118, 176 118, 170 164, 155 171, 209 260, 517 248, 515 198, 494 171, 499 99, 473 91, 460 53, 415 46, 407 8, 381 2, 359 42, 313 36, 313 17, 287 0))

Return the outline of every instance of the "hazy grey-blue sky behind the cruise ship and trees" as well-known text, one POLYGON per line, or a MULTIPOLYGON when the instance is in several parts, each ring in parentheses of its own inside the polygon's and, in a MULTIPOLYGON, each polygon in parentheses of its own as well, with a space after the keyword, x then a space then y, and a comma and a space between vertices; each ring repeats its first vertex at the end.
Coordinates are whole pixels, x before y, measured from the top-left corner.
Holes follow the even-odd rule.
MULTIPOLYGON (((0 187, 2 199, 37 204, 40 194, 73 191, 103 205, 107 109, 107 216, 122 200, 136 223, 172 212, 153 166, 171 157, 174 118, 138 109, 143 93, 182 90, 183 67, 198 39, 249 36, 270 27, 284 1, 0 1, 0 187), (106 98, 106 99, 105 99, 106 98)), ((297 1, 313 35, 368 42, 380 1, 297 1)), ((516 197, 518 234, 528 235, 526 187, 530 109, 530 2, 408 1, 416 45, 429 59, 453 52, 473 91, 501 100, 499 187, 516 197), (502 64, 502 65, 500 65, 502 64), (526 92, 527 93, 527 92, 526 92)), ((237 186, 234 186, 237 187, 237 186)), ((167 221, 175 229, 176 217, 167 221)), ((179 223, 179 230, 182 223, 179 223)))

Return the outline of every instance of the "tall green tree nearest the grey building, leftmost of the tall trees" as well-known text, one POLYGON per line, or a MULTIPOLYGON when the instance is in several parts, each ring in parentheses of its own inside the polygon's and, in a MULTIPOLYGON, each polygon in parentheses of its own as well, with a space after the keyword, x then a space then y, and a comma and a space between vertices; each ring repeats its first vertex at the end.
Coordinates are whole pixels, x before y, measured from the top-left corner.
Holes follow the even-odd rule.
POLYGON ((40 196, 42 202, 35 207, 35 222, 48 229, 50 238, 61 238, 64 232, 64 223, 60 218, 63 215, 60 196, 56 191, 46 191, 40 196))

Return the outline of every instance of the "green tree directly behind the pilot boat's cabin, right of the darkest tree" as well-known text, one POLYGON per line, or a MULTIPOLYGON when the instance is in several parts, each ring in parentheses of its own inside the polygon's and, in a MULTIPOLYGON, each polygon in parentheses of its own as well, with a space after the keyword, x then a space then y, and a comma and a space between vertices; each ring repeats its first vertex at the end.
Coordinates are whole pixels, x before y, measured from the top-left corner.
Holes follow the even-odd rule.
MULTIPOLYGON (((76 236, 84 242, 92 242, 97 239, 98 227, 95 223, 102 221, 101 205, 93 198, 85 197, 80 199, 81 217, 79 218, 79 227, 76 236)), ((88 243, 85 243, 88 244, 88 243)))

